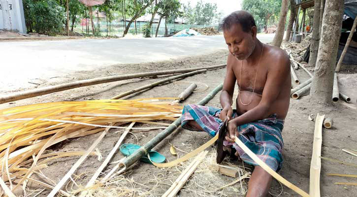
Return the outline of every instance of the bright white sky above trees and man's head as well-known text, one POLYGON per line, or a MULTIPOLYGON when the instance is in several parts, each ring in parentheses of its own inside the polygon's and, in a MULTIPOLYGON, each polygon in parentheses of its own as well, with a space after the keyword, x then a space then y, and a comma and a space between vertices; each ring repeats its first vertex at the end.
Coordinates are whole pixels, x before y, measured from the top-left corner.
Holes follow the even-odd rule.
MULTIPOLYGON (((191 6, 195 6, 199 0, 180 0, 181 3, 187 4, 190 2, 191 6)), ((223 16, 227 16, 233 11, 241 9, 242 0, 202 0, 204 3, 217 3, 217 11, 222 11, 223 16)))

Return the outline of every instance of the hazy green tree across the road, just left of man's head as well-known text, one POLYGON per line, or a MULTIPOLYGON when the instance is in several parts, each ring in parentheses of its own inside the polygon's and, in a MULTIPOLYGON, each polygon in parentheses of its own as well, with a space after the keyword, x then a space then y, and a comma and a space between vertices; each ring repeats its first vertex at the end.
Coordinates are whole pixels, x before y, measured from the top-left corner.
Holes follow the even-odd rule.
POLYGON ((183 17, 188 24, 209 25, 213 20, 220 18, 222 13, 217 12, 216 3, 204 3, 198 1, 195 7, 192 7, 190 2, 183 6, 183 17))

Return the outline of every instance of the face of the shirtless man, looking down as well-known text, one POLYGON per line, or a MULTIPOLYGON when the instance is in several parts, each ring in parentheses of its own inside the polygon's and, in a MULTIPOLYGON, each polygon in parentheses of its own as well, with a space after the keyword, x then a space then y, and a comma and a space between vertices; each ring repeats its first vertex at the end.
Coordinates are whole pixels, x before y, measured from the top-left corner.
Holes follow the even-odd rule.
MULTIPOLYGON (((253 28, 252 28, 253 30, 253 28)), ((247 59, 255 48, 255 33, 244 32, 240 24, 235 24, 229 30, 223 31, 229 52, 238 60, 247 59)))

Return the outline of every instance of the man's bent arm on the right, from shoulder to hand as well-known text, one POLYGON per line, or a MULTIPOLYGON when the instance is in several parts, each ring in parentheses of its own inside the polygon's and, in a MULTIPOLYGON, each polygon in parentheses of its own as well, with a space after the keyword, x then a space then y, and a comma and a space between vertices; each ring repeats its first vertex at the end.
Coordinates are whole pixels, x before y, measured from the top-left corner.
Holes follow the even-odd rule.
POLYGON ((259 104, 230 121, 231 123, 230 126, 228 126, 228 130, 232 140, 234 140, 234 133, 236 132, 237 126, 261 120, 271 115, 269 114, 271 111, 271 103, 273 103, 279 96, 281 86, 285 82, 287 75, 290 75, 290 59, 287 54, 279 52, 277 54, 276 65, 268 68, 266 82, 259 104), (234 127, 235 131, 233 131, 234 127))

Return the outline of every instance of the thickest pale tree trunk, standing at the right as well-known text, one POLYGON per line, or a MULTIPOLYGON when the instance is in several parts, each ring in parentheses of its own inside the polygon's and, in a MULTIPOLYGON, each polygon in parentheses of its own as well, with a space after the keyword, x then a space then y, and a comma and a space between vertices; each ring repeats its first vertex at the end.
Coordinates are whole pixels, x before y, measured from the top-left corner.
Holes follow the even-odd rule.
MULTIPOLYGON (((341 36, 343 2, 344 0, 328 0, 325 3, 321 42, 310 91, 310 100, 315 103, 332 102, 333 71, 336 65, 338 42, 341 36)), ((320 18, 320 13, 315 16, 320 18)), ((315 31, 318 32, 318 30, 318 28, 315 28, 315 31)))

